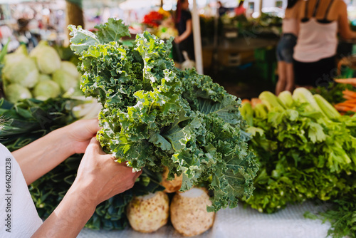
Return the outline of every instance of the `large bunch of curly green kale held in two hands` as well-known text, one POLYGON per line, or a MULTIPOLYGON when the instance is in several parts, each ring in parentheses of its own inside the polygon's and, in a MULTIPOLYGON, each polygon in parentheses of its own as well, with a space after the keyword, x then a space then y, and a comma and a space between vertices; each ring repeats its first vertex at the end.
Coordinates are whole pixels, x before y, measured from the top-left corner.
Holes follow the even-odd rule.
POLYGON ((133 170, 167 166, 169 178, 182 174, 182 191, 207 183, 214 192, 209 211, 251 196, 258 166, 240 100, 208 76, 177 70, 169 59, 172 39, 144 32, 125 48, 120 38, 129 31, 121 20, 94 32, 68 28, 80 56, 80 87, 103 105, 97 138, 105 152, 133 170))

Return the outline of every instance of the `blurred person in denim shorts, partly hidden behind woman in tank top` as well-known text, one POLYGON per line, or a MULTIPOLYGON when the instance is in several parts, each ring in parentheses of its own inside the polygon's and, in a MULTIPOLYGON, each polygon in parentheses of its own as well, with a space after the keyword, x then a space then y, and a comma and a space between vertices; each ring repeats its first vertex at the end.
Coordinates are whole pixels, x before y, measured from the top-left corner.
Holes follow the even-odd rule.
POLYGON ((293 49, 297 43, 300 0, 288 0, 282 23, 282 36, 277 45, 278 82, 276 95, 284 90, 294 89, 293 49))

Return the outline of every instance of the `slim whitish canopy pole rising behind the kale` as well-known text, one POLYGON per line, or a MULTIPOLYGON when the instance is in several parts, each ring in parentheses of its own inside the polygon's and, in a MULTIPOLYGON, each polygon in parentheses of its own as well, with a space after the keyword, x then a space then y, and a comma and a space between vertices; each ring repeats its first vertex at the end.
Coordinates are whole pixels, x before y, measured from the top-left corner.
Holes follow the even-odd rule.
POLYGON ((192 25, 194 38, 195 68, 199 74, 203 74, 203 56, 201 51, 200 21, 197 9, 197 0, 193 0, 192 25))

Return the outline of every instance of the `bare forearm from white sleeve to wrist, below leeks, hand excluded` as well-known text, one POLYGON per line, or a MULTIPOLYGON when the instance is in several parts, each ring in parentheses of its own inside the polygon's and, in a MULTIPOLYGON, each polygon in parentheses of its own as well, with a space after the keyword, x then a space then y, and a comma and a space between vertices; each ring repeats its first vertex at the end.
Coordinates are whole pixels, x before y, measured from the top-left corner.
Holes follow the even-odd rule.
POLYGON ((27 185, 73 155, 73 144, 63 128, 54 130, 33 143, 12 152, 21 167, 27 185))

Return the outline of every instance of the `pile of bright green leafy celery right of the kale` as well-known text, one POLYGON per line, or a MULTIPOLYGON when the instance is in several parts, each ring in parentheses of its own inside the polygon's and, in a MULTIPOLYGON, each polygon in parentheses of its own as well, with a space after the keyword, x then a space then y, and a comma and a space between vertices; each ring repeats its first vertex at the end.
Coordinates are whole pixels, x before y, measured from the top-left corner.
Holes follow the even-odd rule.
POLYGON ((305 88, 293 96, 263 92, 259 98, 255 108, 241 108, 260 164, 248 205, 271 213, 288 203, 355 192, 355 118, 340 115, 305 88))

